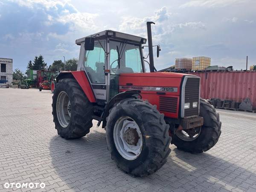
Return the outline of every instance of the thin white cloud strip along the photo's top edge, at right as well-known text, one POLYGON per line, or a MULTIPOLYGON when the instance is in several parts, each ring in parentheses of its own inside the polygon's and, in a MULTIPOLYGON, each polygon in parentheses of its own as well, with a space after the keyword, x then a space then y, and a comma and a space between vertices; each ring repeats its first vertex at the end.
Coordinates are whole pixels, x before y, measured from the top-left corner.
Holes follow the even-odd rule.
POLYGON ((225 7, 234 4, 241 4, 250 0, 190 0, 180 7, 225 7))

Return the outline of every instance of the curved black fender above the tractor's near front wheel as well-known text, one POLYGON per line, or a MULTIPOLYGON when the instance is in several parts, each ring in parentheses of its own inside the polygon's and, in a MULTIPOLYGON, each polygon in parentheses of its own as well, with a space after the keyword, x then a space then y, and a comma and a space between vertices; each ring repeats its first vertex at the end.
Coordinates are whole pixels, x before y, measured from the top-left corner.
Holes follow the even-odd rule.
POLYGON ((128 99, 128 98, 142 98, 140 95, 140 91, 139 90, 129 90, 129 91, 124 91, 121 93, 118 93, 116 96, 114 96, 109 102, 108 105, 105 106, 105 112, 103 115, 103 122, 102 122, 102 128, 105 128, 107 121, 106 118, 109 115, 109 110, 111 108, 113 108, 113 106, 115 105, 115 103, 123 100, 123 99, 128 99))

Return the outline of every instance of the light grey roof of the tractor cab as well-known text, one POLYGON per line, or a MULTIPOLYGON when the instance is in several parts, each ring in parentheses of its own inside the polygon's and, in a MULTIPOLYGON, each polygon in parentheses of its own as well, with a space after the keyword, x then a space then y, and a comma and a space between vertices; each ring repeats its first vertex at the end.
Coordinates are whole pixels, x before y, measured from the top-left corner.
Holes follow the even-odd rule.
POLYGON ((119 39, 119 40, 128 40, 137 44, 145 44, 147 42, 146 38, 130 35, 127 33, 112 31, 112 30, 105 30, 102 32, 95 33, 93 35, 88 35, 84 38, 80 38, 76 40, 77 45, 81 45, 81 43, 84 42, 84 39, 87 37, 99 37, 99 38, 113 38, 113 39, 119 39))

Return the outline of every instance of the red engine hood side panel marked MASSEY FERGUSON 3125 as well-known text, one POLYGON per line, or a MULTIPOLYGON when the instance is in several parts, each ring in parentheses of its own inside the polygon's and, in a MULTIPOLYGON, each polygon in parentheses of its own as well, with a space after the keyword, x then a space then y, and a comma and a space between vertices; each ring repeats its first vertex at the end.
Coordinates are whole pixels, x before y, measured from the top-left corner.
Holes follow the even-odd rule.
POLYGON ((143 100, 157 105, 166 117, 179 116, 181 77, 125 76, 119 77, 119 91, 140 90, 143 100))

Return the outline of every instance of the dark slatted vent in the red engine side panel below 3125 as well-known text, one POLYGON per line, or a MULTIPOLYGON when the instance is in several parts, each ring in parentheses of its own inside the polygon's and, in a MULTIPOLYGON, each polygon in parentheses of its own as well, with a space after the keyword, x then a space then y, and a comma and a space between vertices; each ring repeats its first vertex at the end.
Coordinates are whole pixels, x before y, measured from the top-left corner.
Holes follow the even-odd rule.
POLYGON ((168 113, 176 113, 177 112, 177 102, 178 102, 178 98, 160 96, 159 110, 168 112, 168 113))

